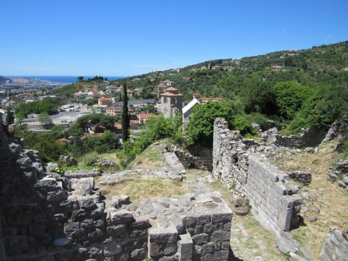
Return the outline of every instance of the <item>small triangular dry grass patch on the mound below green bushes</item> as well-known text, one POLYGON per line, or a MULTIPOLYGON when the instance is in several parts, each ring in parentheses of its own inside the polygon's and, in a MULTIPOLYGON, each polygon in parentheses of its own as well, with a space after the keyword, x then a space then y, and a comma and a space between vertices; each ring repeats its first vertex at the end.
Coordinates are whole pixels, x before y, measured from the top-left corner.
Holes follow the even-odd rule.
POLYGON ((133 168, 155 168, 164 166, 163 155, 159 154, 159 145, 152 145, 141 153, 132 163, 133 168))

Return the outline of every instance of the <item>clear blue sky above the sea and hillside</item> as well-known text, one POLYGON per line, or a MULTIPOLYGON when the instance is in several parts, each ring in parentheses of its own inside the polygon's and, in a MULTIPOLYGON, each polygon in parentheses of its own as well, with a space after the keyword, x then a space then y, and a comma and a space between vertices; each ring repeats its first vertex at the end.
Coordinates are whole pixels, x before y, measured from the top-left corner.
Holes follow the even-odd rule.
POLYGON ((1 1, 0 75, 132 76, 348 40, 347 0, 1 1))

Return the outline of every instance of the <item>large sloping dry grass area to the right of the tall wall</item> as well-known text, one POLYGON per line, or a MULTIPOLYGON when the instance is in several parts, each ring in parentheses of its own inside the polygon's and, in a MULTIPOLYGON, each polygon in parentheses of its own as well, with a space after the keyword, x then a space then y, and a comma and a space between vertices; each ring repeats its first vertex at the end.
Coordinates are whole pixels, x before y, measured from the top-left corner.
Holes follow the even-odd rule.
MULTIPOLYGON (((304 217, 306 214, 317 216, 317 221, 309 222, 303 220, 301 226, 291 233, 294 238, 305 246, 313 258, 319 260, 319 253, 322 249, 325 235, 329 233, 329 227, 335 226, 340 228, 348 227, 348 193, 345 189, 338 187, 337 182, 326 180, 326 173, 329 166, 333 164, 335 159, 341 155, 335 152, 333 148, 337 145, 337 141, 331 142, 333 146, 326 144, 319 148, 318 153, 301 152, 296 155, 283 155, 282 159, 276 161, 280 169, 285 172, 290 171, 311 171, 312 183, 308 187, 300 189, 310 193, 309 212, 301 212, 304 217), (292 159, 291 159, 292 158, 292 159), (318 189, 324 189, 324 196, 319 196, 318 189), (318 207, 320 213, 313 212, 318 207)), ((302 208, 304 205, 302 206, 302 208)))

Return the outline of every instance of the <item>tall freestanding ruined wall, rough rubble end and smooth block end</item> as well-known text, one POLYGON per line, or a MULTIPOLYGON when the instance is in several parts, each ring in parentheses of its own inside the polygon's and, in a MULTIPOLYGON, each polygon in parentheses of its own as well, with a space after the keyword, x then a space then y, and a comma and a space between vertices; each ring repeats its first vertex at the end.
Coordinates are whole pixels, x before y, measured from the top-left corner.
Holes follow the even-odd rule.
POLYGON ((287 174, 264 160, 273 148, 274 144, 243 139, 239 132, 228 129, 224 119, 214 122, 212 174, 237 196, 248 198, 255 218, 279 235, 298 225, 302 198, 290 196, 298 188, 287 174))

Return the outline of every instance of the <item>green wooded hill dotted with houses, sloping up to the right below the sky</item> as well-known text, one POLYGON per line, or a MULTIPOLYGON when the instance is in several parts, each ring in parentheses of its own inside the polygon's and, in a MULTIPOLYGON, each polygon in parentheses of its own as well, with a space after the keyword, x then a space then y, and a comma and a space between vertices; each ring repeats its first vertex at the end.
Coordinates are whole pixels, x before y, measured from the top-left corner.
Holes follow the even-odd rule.
POLYGON ((175 81, 173 86, 189 101, 193 93, 200 97, 222 97, 226 100, 241 100, 246 90, 255 82, 266 81, 275 84, 279 81, 294 81, 301 85, 308 85, 319 90, 338 77, 339 72, 348 66, 348 41, 333 45, 321 45, 312 49, 299 51, 279 51, 259 56, 244 57, 237 65, 236 60, 219 59, 205 61, 181 68, 180 72, 166 70, 163 77, 159 73, 136 75, 118 80, 122 85, 128 81, 129 88, 145 88, 143 92, 157 89, 159 81, 168 79, 175 81), (200 70, 219 65, 218 70, 200 70), (273 66, 281 66, 281 70, 274 71, 273 66), (190 78, 189 80, 183 79, 190 78), (132 81, 132 79, 142 79, 132 81), (154 81, 150 81, 155 79, 154 81))

